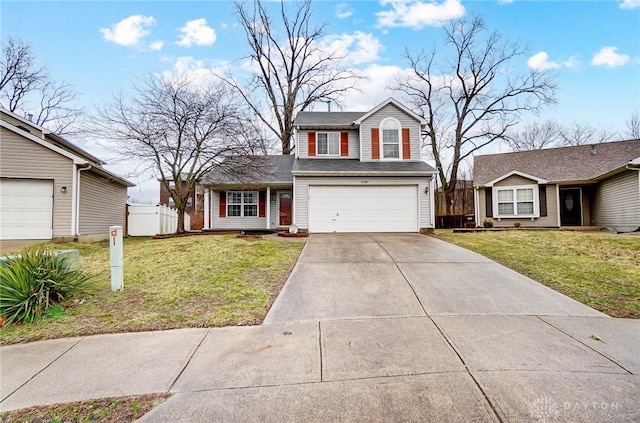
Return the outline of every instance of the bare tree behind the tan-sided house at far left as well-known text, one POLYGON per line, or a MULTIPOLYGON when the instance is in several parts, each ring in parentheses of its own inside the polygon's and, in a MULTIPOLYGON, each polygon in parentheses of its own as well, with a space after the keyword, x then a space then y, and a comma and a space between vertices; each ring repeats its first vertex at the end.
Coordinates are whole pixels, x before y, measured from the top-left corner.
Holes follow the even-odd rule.
POLYGON ((8 37, 2 43, 0 59, 0 98, 2 107, 19 112, 41 126, 61 135, 73 135, 73 124, 82 110, 73 107, 76 93, 71 85, 51 80, 39 67, 30 44, 8 37))

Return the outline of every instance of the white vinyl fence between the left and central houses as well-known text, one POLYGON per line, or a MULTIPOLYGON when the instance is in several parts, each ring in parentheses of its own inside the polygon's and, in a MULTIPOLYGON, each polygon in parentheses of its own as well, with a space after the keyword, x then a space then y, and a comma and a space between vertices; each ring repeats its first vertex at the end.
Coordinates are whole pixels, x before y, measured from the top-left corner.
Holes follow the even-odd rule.
MULTIPOLYGON (((176 209, 158 204, 129 204, 127 229, 129 236, 153 236, 171 234, 178 228, 178 212, 176 209)), ((184 229, 191 229, 191 219, 184 215, 184 229)))

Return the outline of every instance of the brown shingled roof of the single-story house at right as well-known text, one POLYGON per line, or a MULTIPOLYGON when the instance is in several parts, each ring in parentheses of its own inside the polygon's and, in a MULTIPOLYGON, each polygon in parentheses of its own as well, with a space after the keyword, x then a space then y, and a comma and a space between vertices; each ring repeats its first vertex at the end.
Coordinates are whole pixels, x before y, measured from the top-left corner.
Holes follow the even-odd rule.
POLYGON ((475 186, 520 172, 554 182, 588 182, 640 157, 640 139, 475 156, 475 186))

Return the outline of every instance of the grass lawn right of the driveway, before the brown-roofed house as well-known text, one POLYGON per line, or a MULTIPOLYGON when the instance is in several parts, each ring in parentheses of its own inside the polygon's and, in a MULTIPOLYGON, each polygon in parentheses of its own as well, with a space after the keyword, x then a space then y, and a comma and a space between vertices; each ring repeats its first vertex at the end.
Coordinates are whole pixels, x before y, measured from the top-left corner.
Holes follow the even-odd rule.
POLYGON ((435 236, 613 317, 640 318, 640 235, 510 230, 435 236))

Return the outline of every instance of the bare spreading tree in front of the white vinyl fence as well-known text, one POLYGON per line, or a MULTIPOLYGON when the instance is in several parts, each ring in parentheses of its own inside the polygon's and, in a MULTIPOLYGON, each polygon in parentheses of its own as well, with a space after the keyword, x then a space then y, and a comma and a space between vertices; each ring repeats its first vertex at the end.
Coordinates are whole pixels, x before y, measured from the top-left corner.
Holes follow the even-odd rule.
POLYGON ((260 165, 227 160, 264 154, 264 141, 245 131, 251 125, 242 106, 221 81, 149 75, 133 84, 129 97, 113 96, 98 111, 96 135, 115 141, 114 150, 159 176, 178 211, 177 232, 184 232, 189 193, 203 176, 237 176, 260 165))

